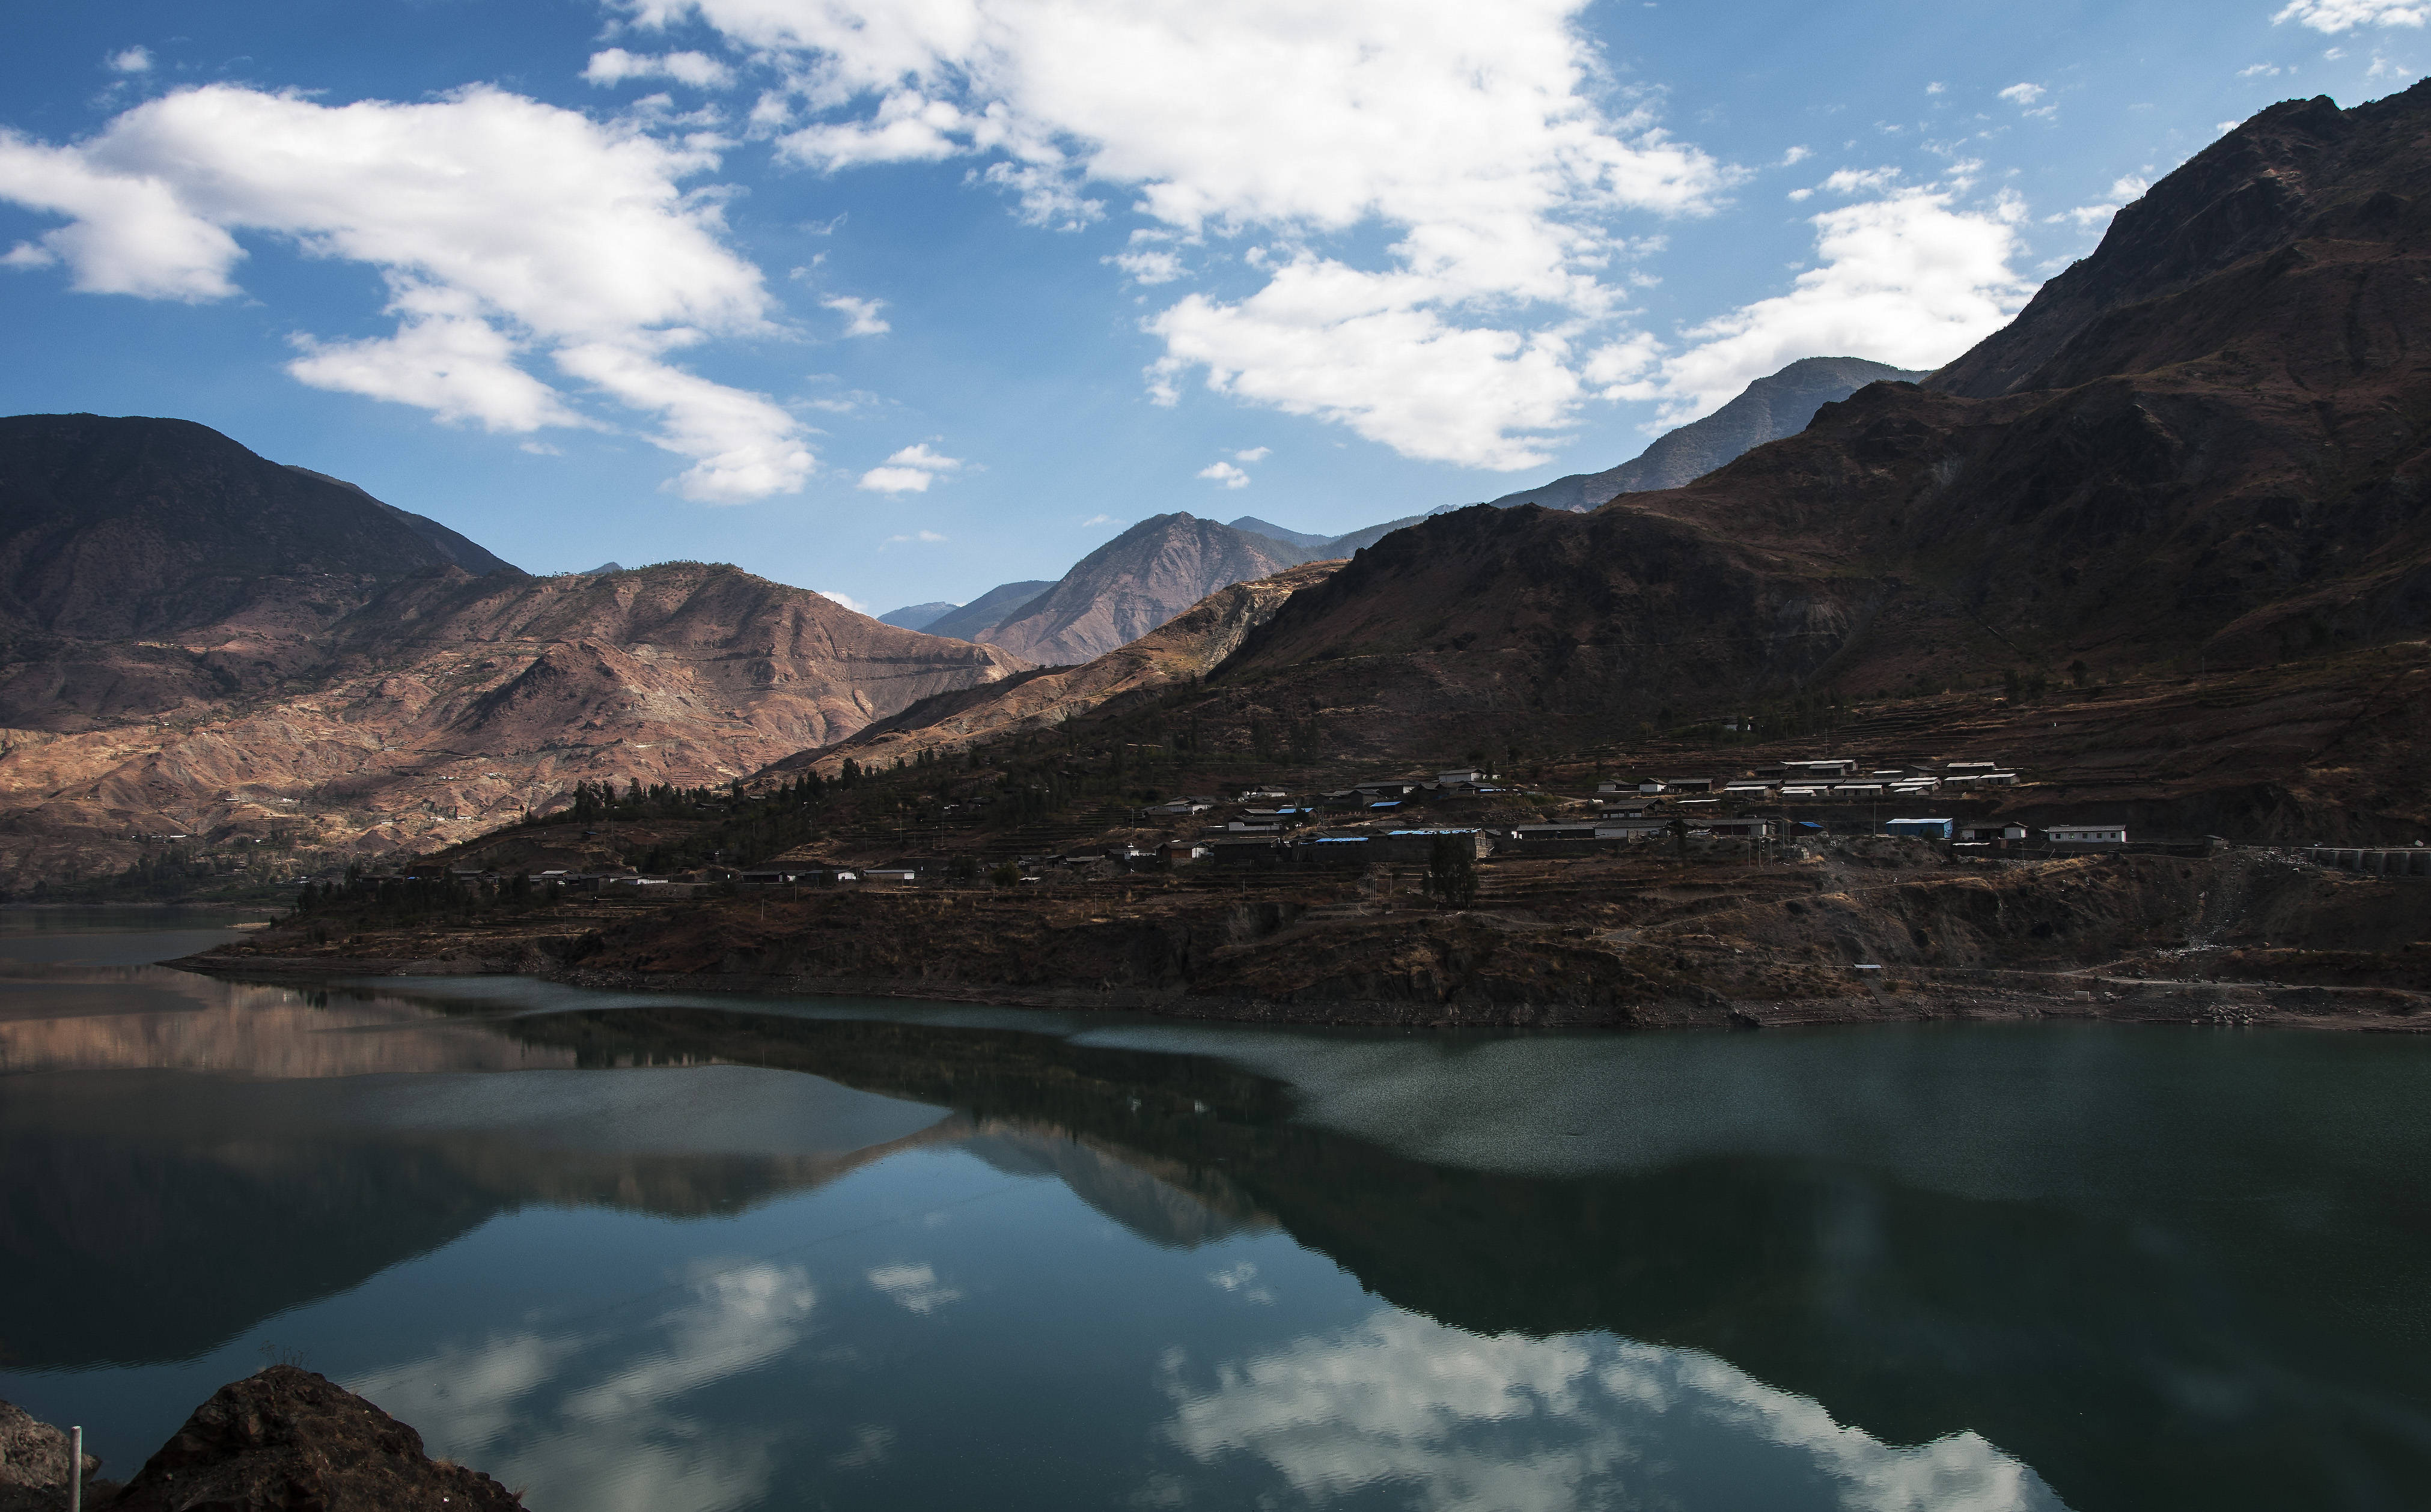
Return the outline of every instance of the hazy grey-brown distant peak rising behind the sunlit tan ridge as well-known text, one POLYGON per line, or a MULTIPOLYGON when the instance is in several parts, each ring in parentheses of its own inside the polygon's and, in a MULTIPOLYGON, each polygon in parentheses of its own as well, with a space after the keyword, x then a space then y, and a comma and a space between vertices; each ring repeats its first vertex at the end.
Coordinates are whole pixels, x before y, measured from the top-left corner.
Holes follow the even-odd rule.
POLYGON ((1082 557, 1053 588, 982 632, 1023 661, 1077 666, 1164 625, 1208 593, 1274 576, 1308 552, 1196 515, 1150 515, 1082 557))

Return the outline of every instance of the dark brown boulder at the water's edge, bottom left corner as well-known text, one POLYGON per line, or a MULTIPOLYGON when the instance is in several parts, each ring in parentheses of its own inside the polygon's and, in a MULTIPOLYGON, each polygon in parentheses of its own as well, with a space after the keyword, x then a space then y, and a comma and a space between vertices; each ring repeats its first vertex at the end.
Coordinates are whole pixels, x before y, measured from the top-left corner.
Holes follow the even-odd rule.
POLYGON ((297 1366, 221 1386, 194 1407, 114 1512, 520 1512, 479 1471, 423 1454, 423 1437, 297 1366))

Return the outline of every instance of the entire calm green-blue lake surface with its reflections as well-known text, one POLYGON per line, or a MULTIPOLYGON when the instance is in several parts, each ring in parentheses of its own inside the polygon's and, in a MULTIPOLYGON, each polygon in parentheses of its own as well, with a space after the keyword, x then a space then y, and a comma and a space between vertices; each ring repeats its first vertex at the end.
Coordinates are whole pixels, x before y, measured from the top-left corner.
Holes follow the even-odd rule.
POLYGON ((2431 1040, 1386 1036, 0 921, 0 1398, 542 1512, 2431 1505, 2431 1040))

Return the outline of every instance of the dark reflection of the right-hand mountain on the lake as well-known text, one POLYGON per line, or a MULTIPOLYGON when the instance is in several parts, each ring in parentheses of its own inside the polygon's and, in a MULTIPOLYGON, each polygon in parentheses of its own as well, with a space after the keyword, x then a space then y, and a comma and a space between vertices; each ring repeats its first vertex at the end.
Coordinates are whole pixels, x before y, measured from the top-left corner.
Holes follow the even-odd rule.
MULTIPOLYGON (((2081 1507, 2302 1505, 2331 1483, 2358 1507, 2431 1493, 2421 1381, 2297 1337, 2300 1315, 2271 1310, 2336 1279, 2292 1264, 2237 1276, 2263 1281, 2256 1308, 2190 1254, 2251 1208, 2195 1213, 2217 1232, 2171 1213, 2171 1232, 2149 1213, 1952 1196, 1823 1162, 1473 1172, 1291 1123, 1286 1089, 1216 1060, 1014 1031, 666 1006, 515 1033, 586 1060, 656 1045, 980 1108, 1152 1172, 1223 1223, 1276 1223, 1398 1308, 1476 1335, 1704 1349, 1882 1442, 1974 1429, 2081 1507), (2288 1369, 2302 1359, 2317 1373, 2288 1369)), ((2419 1254, 2353 1259, 2431 1281, 2419 1254)))

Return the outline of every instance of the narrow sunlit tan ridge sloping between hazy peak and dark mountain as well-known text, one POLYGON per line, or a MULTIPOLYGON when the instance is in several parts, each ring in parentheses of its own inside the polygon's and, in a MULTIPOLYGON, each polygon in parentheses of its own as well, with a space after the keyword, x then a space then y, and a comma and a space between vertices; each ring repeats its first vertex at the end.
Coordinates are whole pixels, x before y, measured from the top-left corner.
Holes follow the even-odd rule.
POLYGON ((1252 630, 1284 608, 1284 600, 1322 583, 1339 566, 1339 562, 1310 562, 1271 579, 1218 588, 1157 630, 1084 666, 1050 666, 985 688, 924 698, 834 746, 802 751, 778 766, 788 771, 814 766, 831 773, 846 758, 865 766, 912 761, 921 751, 960 751, 999 734, 1053 729, 1077 715, 1121 707, 1130 695, 1216 671, 1252 630))

